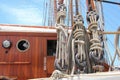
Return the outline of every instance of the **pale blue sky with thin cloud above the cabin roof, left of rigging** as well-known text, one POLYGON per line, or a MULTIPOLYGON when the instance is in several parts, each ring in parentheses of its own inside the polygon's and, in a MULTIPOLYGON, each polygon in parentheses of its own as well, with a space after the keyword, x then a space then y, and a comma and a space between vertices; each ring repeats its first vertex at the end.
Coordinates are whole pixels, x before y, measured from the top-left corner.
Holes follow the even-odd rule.
POLYGON ((1 24, 42 24, 42 0, 0 0, 1 24))

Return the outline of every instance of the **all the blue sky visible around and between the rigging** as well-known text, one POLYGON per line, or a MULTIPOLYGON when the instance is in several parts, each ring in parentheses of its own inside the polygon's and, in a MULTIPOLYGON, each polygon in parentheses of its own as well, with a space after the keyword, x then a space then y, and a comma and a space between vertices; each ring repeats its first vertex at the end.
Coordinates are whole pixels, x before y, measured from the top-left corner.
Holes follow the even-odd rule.
MULTIPOLYGON (((44 1, 49 0, 0 0, 0 24, 43 26, 43 18, 47 13, 45 12, 44 1)), ((120 0, 109 1, 120 2, 120 0)), ((81 0, 81 3, 85 26, 87 26, 86 15, 84 14, 86 13, 85 0, 81 0)), ((116 31, 120 26, 120 5, 103 3, 103 12, 105 31, 116 31)), ((107 35, 106 37, 110 52, 114 53, 114 35, 107 35)))

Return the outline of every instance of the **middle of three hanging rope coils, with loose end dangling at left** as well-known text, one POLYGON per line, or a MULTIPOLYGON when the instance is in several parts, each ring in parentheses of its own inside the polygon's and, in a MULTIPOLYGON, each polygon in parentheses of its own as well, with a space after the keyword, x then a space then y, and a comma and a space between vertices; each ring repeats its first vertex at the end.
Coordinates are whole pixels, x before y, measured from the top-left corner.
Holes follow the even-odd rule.
POLYGON ((84 41, 84 26, 81 15, 76 15, 74 18, 74 25, 72 29, 72 71, 75 72, 75 65, 80 68, 86 66, 86 55, 85 55, 85 41, 84 41))

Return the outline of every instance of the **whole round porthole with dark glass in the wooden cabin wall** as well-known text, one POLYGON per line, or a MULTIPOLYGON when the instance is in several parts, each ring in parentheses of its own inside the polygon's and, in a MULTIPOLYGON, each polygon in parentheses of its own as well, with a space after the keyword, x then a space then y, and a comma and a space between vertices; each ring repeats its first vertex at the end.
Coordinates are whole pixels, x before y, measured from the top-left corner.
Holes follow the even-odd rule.
POLYGON ((29 49, 30 43, 26 39, 21 39, 17 42, 16 47, 20 52, 25 52, 29 49))

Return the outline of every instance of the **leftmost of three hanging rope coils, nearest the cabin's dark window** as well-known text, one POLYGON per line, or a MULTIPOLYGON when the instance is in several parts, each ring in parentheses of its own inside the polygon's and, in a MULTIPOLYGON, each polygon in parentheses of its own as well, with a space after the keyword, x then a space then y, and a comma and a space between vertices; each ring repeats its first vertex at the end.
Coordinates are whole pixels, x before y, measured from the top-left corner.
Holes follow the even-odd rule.
POLYGON ((60 4, 57 13, 57 47, 56 47, 56 59, 55 67, 60 71, 66 71, 67 69, 67 37, 68 32, 64 25, 66 17, 66 7, 64 4, 60 4))

